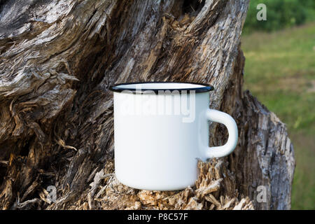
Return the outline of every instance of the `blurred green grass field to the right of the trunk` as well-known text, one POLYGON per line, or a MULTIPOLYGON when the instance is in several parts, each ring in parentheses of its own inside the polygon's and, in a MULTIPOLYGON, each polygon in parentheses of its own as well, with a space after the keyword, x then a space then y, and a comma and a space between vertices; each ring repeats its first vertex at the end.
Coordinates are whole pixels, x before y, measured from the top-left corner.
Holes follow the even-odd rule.
POLYGON ((315 23, 244 35, 245 88, 286 123, 295 150, 292 209, 315 209, 315 23))

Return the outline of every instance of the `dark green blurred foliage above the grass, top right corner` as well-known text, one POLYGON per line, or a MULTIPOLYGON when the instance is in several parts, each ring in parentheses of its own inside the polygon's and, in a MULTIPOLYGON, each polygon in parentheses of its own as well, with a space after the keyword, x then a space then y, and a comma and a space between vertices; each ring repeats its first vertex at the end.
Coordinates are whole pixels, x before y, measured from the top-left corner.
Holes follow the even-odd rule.
POLYGON ((314 0, 251 0, 243 32, 275 31, 315 20, 314 0), (258 4, 267 6, 267 20, 256 18, 258 4))

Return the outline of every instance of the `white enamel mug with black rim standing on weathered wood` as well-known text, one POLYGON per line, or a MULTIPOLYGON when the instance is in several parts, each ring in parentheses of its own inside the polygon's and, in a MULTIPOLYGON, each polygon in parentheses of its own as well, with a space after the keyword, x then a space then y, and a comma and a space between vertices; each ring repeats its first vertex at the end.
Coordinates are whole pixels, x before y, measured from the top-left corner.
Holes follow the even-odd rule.
POLYGON ((209 109, 200 83, 122 83, 114 98, 115 173, 141 190, 194 186, 197 160, 220 158, 237 145, 237 125, 227 113, 209 109), (223 146, 209 147, 209 121, 228 128, 223 146))

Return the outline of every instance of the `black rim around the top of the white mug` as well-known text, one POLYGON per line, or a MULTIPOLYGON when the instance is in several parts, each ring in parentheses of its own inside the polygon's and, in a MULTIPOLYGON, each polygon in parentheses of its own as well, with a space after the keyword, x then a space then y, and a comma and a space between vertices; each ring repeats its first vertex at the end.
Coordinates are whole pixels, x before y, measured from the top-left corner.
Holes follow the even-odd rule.
POLYGON ((214 86, 213 85, 209 85, 207 83, 194 83, 194 82, 170 82, 170 81, 165 81, 165 82, 160 82, 160 81, 152 81, 152 82, 132 82, 132 83, 117 83, 114 85, 111 85, 109 87, 109 90, 113 91, 113 92, 123 92, 124 90, 128 90, 131 91, 132 93, 144 93, 145 91, 153 91, 155 93, 158 93, 159 91, 174 91, 174 90, 178 90, 178 91, 195 91, 197 92, 209 92, 214 90, 214 86), (158 83, 158 84, 166 84, 166 83, 172 83, 172 84, 190 84, 190 85, 196 85, 196 87, 182 87, 182 88, 169 88, 169 87, 162 87, 162 88, 141 88, 141 89, 137 89, 135 87, 119 87, 119 85, 137 85, 137 84, 153 84, 153 83, 158 83), (197 85, 202 85, 197 86, 197 85))

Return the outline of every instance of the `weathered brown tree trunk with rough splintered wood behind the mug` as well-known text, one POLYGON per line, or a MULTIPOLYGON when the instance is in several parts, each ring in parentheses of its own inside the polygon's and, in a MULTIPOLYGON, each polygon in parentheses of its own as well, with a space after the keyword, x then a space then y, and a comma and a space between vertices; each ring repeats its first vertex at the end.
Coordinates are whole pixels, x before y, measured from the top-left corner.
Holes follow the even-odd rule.
MULTIPOLYGON (((247 8, 248 0, 0 1, 1 209, 290 209, 286 125, 242 90, 247 8), (235 152, 199 162, 193 188, 135 190, 113 174, 109 85, 153 80, 214 85, 210 108, 237 121, 235 152)), ((223 126, 210 132, 210 145, 224 144, 223 126)))

